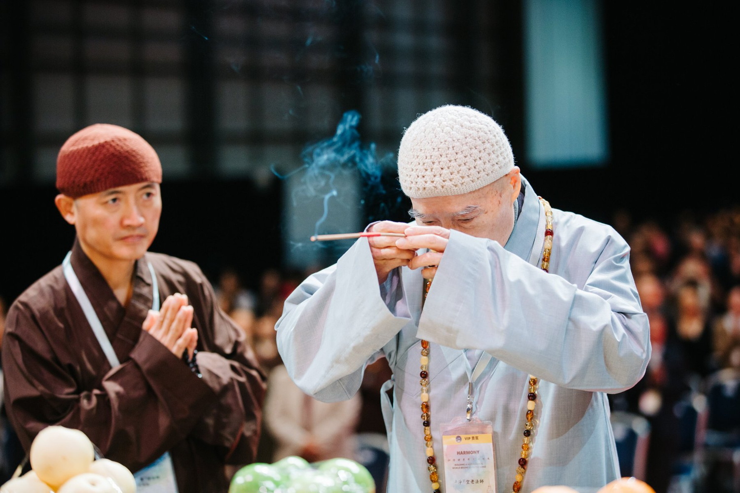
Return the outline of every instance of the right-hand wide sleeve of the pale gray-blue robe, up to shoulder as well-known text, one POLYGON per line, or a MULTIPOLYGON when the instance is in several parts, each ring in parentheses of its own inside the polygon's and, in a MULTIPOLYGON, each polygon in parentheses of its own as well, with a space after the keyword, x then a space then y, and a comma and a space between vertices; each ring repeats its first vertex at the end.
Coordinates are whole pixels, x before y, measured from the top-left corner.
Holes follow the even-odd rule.
POLYGON ((557 271, 573 282, 552 273, 554 262, 545 273, 497 242, 451 231, 417 336, 485 350, 562 387, 632 387, 650 359, 649 327, 629 247, 609 231, 580 228, 578 237, 554 246, 557 271))

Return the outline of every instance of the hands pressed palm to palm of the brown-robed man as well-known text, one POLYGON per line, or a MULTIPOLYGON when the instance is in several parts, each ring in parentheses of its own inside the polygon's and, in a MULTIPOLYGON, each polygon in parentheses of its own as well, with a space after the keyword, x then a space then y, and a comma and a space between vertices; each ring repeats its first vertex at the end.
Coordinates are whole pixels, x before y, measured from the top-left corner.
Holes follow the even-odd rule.
POLYGON ((185 350, 192 358, 198 345, 198 330, 190 327, 192 314, 193 308, 188 305, 187 296, 175 293, 167 296, 158 312, 149 310, 141 328, 178 358, 183 356, 185 350))

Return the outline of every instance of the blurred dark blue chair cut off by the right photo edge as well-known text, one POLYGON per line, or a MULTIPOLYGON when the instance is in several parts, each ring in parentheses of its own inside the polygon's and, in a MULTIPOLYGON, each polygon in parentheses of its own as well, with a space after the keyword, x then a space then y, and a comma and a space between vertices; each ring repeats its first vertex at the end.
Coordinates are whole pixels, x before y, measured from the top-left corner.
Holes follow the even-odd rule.
POLYGON ((726 368, 704 380, 707 426, 697 461, 699 491, 740 492, 740 370, 726 368))

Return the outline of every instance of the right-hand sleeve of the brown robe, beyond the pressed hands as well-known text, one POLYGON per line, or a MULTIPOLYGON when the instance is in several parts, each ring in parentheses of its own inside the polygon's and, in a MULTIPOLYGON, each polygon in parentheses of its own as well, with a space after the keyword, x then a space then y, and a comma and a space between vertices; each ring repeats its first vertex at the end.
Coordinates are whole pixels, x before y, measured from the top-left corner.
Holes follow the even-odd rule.
POLYGON ((257 455, 266 377, 243 330, 218 307, 212 286, 200 268, 192 266, 198 285, 187 294, 198 296, 202 308, 193 322, 198 329, 198 367, 216 395, 192 435, 218 447, 228 463, 250 463, 257 455))

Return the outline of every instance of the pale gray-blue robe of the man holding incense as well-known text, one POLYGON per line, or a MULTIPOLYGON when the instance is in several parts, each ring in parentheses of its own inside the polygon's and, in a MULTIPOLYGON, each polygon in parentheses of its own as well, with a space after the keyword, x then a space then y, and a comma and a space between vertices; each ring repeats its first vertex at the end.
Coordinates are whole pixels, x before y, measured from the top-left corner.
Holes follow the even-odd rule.
POLYGON ((477 381, 474 415, 493 423, 498 492, 511 492, 514 483, 528 374, 541 382, 521 491, 543 485, 594 491, 619 477, 605 392, 632 387, 650 359, 629 247, 610 226, 554 209, 550 272, 541 271, 544 208, 526 180, 522 187, 523 205, 505 248, 451 231, 423 313, 420 271, 397 269, 379 289, 366 239, 286 300, 276 324, 278 348, 310 395, 349 398, 366 364, 388 359, 392 403, 381 392, 391 449, 388 492, 431 492, 420 419, 420 339, 431 342, 438 463, 440 424, 465 415, 462 350, 485 350, 493 359, 477 381))

